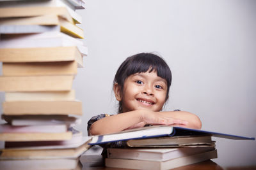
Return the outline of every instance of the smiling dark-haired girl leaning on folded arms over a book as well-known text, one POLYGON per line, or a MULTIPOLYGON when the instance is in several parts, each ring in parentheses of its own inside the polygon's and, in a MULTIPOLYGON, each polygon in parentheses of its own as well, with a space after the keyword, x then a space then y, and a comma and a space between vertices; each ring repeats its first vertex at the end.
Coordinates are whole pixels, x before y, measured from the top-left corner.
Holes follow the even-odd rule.
POLYGON ((172 73, 161 57, 152 53, 128 57, 113 81, 113 91, 119 101, 118 114, 92 117, 88 134, 108 134, 145 125, 201 129, 200 119, 192 113, 161 111, 168 100, 171 82, 172 73))

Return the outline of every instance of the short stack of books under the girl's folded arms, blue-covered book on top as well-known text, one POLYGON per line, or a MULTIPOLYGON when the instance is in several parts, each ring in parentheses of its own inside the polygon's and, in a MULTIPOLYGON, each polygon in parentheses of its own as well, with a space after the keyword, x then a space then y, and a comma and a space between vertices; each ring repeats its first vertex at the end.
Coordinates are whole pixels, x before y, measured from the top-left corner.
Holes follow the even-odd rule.
POLYGON ((124 141, 124 148, 108 148, 106 167, 128 169, 173 169, 217 158, 212 136, 250 139, 182 127, 152 126, 115 134, 93 136, 90 145, 124 141))

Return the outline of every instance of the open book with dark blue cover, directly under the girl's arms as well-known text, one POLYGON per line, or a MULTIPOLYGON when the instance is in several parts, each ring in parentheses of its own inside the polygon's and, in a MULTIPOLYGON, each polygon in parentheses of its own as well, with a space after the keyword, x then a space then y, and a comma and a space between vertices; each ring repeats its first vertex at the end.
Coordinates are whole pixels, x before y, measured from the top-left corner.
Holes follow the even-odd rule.
POLYGON ((131 130, 117 132, 113 134, 93 136, 93 139, 90 145, 99 145, 102 143, 109 143, 114 141, 126 141, 129 139, 156 138, 161 136, 192 136, 192 135, 209 135, 209 136, 227 138, 227 139, 255 140, 255 138, 236 136, 232 134, 223 134, 219 132, 189 129, 184 127, 172 127, 168 125, 156 125, 156 126, 150 126, 150 127, 141 127, 137 129, 131 129, 131 130))

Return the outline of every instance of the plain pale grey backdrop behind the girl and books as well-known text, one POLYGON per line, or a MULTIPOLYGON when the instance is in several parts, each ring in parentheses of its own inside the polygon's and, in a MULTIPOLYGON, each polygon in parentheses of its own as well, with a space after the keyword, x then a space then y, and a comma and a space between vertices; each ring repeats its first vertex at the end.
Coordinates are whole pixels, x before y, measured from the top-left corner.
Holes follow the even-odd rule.
MULTIPOLYGON (((91 117, 117 111, 118 66, 154 52, 173 74, 164 110, 195 113, 204 130, 256 137, 256 1, 86 0, 77 12, 89 50, 73 86, 84 135, 91 117)), ((220 166, 256 165, 255 141, 214 140, 220 166)))

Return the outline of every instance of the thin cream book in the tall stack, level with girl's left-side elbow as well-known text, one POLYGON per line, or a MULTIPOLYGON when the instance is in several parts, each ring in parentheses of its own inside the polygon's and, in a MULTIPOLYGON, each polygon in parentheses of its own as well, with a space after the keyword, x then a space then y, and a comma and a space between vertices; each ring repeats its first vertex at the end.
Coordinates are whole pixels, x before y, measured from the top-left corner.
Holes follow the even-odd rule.
POLYGON ((0 133, 0 141, 61 141, 72 138, 72 132, 28 132, 28 133, 0 133))

